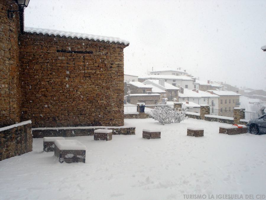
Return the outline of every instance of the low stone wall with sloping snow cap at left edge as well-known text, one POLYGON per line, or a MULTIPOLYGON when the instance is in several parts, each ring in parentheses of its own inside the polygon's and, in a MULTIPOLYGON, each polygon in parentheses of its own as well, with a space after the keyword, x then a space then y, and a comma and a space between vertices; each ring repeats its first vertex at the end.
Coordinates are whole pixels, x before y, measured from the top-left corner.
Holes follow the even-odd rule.
POLYGON ((32 151, 31 121, 0 128, 0 160, 32 151))

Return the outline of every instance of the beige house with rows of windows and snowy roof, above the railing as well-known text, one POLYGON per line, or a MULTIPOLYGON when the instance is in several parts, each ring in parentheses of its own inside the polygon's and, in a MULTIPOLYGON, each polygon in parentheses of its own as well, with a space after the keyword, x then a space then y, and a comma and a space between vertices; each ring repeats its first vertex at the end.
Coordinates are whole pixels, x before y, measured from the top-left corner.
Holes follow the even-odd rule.
POLYGON ((218 109, 233 111, 235 107, 239 107, 240 94, 232 91, 208 90, 207 92, 219 96, 218 109))

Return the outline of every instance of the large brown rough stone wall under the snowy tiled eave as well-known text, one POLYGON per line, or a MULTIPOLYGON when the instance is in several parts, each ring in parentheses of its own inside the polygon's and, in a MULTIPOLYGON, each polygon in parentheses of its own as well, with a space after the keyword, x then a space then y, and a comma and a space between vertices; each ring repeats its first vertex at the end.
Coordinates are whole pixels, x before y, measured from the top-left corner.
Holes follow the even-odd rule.
POLYGON ((124 47, 21 35, 22 119, 31 119, 33 127, 124 125, 124 47))

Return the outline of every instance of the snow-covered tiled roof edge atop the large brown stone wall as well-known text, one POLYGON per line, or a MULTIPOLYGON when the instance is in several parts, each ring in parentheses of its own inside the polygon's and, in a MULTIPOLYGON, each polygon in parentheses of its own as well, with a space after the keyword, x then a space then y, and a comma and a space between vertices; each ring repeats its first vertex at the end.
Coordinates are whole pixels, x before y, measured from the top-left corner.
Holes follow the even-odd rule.
POLYGON ((129 41, 120 39, 118 37, 108 37, 108 36, 98 36, 98 35, 92 35, 87 33, 76 33, 76 32, 70 32, 70 31, 59 31, 59 30, 52 30, 52 29, 46 29, 46 28, 33 28, 33 27, 25 27, 24 31, 26 33, 37 33, 37 34, 43 34, 43 35, 49 35, 49 36, 59 36, 59 37, 70 37, 70 38, 77 38, 77 39, 89 39, 93 41, 104 41, 108 43, 114 43, 114 44, 124 44, 126 46, 129 45, 129 41))

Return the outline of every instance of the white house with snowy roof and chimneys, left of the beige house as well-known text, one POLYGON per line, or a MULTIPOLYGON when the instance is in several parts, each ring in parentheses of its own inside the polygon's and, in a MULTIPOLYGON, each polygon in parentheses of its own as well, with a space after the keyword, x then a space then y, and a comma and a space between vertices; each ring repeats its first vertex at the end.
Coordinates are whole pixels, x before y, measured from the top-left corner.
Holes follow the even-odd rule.
POLYGON ((193 102, 198 105, 208 104, 210 105, 210 108, 218 109, 219 96, 197 89, 189 90, 181 88, 179 91, 179 102, 186 101, 193 102))

